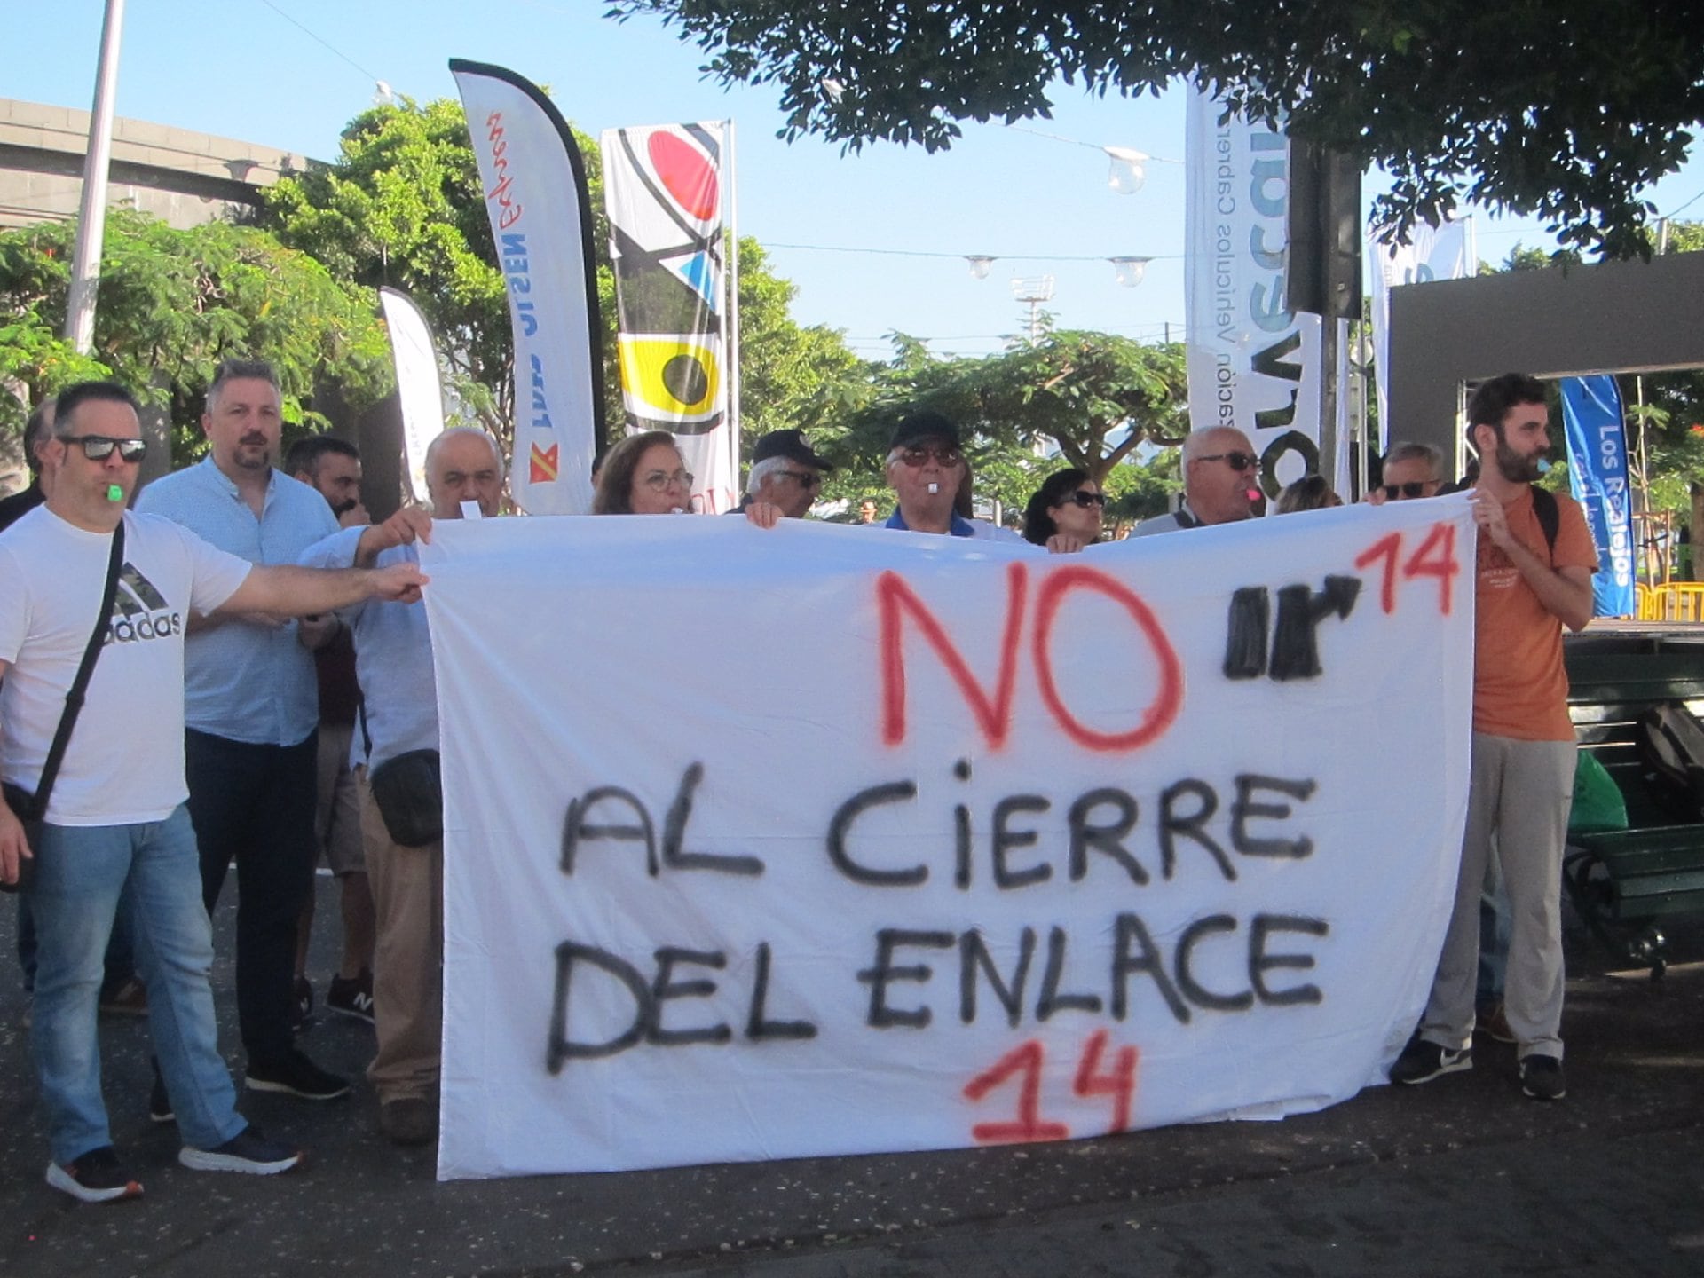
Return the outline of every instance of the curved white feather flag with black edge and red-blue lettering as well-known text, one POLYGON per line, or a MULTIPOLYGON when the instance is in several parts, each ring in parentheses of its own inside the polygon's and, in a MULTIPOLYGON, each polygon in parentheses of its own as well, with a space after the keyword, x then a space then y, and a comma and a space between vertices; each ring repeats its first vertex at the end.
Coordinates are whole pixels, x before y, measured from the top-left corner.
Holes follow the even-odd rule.
POLYGON ((584 162, 538 85, 458 58, 450 72, 515 329, 509 494, 528 515, 584 515, 603 441, 603 329, 584 162))

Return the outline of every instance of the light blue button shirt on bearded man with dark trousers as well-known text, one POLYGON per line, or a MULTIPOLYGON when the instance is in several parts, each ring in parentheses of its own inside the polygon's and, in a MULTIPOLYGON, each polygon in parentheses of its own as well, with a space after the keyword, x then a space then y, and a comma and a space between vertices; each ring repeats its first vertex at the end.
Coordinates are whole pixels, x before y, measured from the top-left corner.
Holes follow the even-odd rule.
MULTIPOLYGON (((337 532, 331 504, 276 469, 261 518, 213 458, 148 484, 136 509, 164 515, 250 564, 295 564, 337 532)), ((296 624, 230 619, 184 641, 184 724, 249 745, 296 745, 319 726, 314 654, 296 624)))

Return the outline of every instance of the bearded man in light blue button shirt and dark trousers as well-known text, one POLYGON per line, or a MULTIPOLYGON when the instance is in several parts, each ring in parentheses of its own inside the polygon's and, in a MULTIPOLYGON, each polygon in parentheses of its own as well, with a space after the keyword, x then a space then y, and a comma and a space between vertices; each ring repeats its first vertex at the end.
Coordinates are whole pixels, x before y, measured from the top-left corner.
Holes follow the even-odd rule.
MULTIPOLYGON (((271 365, 227 360, 208 387, 208 457, 155 481, 136 509, 250 564, 295 564, 337 532, 325 499, 273 469, 281 397, 271 365)), ((295 1046, 296 915, 314 878, 319 683, 312 649, 336 620, 259 613, 191 620, 184 762, 208 913, 237 862, 237 1019, 247 1085, 314 1101, 349 1091, 295 1046)))

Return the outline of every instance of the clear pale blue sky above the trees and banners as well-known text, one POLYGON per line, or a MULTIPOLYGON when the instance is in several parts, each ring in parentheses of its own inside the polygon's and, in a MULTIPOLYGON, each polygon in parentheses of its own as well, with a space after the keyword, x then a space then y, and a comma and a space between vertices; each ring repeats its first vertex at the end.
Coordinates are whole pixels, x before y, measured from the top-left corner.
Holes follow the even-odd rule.
MULTIPOLYGON (((794 314, 845 331, 866 356, 893 329, 939 353, 999 349, 1017 332, 1014 276, 1055 276, 1062 327, 1159 339, 1184 320, 1184 179, 1150 164, 1130 196, 1108 189, 1101 145, 1183 158, 1184 94, 1094 99, 1060 87, 1051 121, 966 124, 946 153, 888 143, 859 155, 815 138, 782 143, 774 89, 724 92, 702 56, 658 24, 617 24, 602 0, 128 0, 119 114, 331 158, 375 80, 453 97, 446 61, 492 61, 549 85, 578 128, 728 119, 736 124, 740 233, 772 249, 799 286, 794 314), (1062 141, 1065 138, 1068 141, 1062 141), (777 247, 777 245, 821 245, 777 247), (840 252, 835 249, 852 249, 840 252), (876 252, 881 250, 881 252, 876 252), (920 254, 944 254, 942 257, 920 254), (963 254, 999 257, 987 279, 963 254), (1116 283, 1113 256, 1155 257, 1116 283), (1084 257, 1089 261, 1056 261, 1084 257)), ((101 0, 14 5, 0 94, 87 109, 101 0)), ((1694 160, 1649 198, 1670 213, 1704 193, 1694 160)), ((1704 201, 1685 216, 1704 216, 1704 201)), ((1481 257, 1544 244, 1530 222, 1479 222, 1481 257)))

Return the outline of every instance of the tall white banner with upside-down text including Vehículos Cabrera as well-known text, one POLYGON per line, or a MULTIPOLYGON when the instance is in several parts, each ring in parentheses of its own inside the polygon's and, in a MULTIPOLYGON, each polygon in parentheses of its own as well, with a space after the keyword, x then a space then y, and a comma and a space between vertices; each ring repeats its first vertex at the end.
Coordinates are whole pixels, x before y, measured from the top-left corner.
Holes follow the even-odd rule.
POLYGON ((1268 496, 1319 467, 1319 315, 1285 305, 1290 147, 1191 89, 1186 124, 1189 428, 1235 426, 1268 496))

